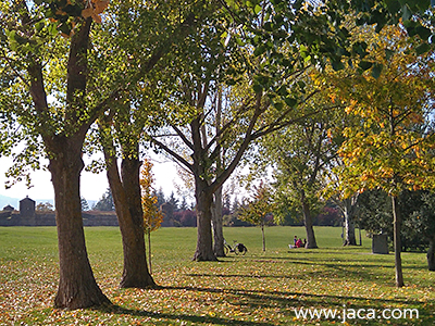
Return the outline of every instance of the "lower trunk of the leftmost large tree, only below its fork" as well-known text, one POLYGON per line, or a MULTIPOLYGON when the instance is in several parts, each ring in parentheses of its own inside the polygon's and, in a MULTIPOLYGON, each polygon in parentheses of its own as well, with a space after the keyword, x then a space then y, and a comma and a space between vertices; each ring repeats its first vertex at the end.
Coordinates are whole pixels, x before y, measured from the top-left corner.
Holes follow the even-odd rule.
POLYGON ((89 264, 83 230, 79 177, 84 167, 82 137, 53 136, 46 141, 54 187, 60 280, 57 308, 80 309, 110 304, 89 264))

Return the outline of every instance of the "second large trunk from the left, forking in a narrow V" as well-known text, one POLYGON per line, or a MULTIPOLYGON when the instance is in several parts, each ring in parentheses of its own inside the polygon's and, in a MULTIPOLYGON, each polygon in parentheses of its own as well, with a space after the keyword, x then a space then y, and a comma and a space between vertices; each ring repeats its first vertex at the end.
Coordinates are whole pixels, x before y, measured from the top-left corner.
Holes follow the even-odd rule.
POLYGON ((120 287, 149 288, 156 283, 148 271, 145 248, 144 214, 140 197, 139 168, 137 159, 123 159, 121 177, 116 159, 104 149, 109 185, 113 196, 120 224, 124 269, 120 287))

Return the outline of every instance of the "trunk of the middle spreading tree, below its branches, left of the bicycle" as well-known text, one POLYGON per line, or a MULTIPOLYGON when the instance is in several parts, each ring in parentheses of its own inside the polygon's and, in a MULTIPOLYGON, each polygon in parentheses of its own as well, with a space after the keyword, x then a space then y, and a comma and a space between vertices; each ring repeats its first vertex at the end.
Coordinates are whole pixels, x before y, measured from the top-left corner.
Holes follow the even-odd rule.
POLYGON ((198 239, 194 261, 216 261, 213 252, 213 241, 211 233, 211 206, 213 203, 213 193, 207 191, 207 183, 196 180, 196 201, 197 201, 197 227, 198 239))

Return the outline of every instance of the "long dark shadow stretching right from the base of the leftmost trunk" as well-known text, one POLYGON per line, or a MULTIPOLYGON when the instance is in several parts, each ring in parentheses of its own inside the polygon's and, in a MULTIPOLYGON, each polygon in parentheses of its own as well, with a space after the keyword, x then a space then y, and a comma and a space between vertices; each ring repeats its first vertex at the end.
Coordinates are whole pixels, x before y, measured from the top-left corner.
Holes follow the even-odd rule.
POLYGON ((189 323, 207 323, 207 324, 216 324, 216 325, 241 325, 241 326, 272 326, 275 324, 263 323, 263 322, 250 322, 250 321, 240 321, 240 319, 231 319, 223 318, 220 316, 200 316, 200 315, 189 315, 189 314, 177 314, 177 313, 160 313, 160 312, 151 312, 144 310, 133 310, 123 308, 121 305, 107 305, 100 306, 95 310, 103 313, 110 314, 119 314, 119 315, 130 315, 134 317, 150 317, 154 319, 171 319, 171 321, 185 321, 189 323))

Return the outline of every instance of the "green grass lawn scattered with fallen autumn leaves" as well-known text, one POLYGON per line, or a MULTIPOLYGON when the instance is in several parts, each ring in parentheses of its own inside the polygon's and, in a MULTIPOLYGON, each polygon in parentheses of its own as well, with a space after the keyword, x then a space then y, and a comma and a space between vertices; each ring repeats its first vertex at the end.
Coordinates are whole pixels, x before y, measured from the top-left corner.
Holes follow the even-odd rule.
POLYGON ((114 305, 52 309, 58 286, 55 228, 0 227, 0 325, 435 324, 435 273, 426 269, 425 254, 402 254, 406 287, 397 289, 394 254, 371 254, 371 240, 364 236, 362 247, 343 248, 341 228, 315 228, 320 249, 290 250, 295 235, 304 237, 303 228, 270 227, 266 252, 261 250, 259 228, 225 228, 226 240, 245 243, 248 253, 202 263, 191 261, 196 228, 161 228, 151 236, 152 272, 160 286, 153 290, 117 288, 117 228, 85 231, 95 276, 114 305), (299 309, 336 310, 337 316, 297 318, 299 309), (419 318, 415 313, 409 318, 406 310, 411 309, 419 311, 419 318), (389 318, 382 317, 383 311, 389 318))

